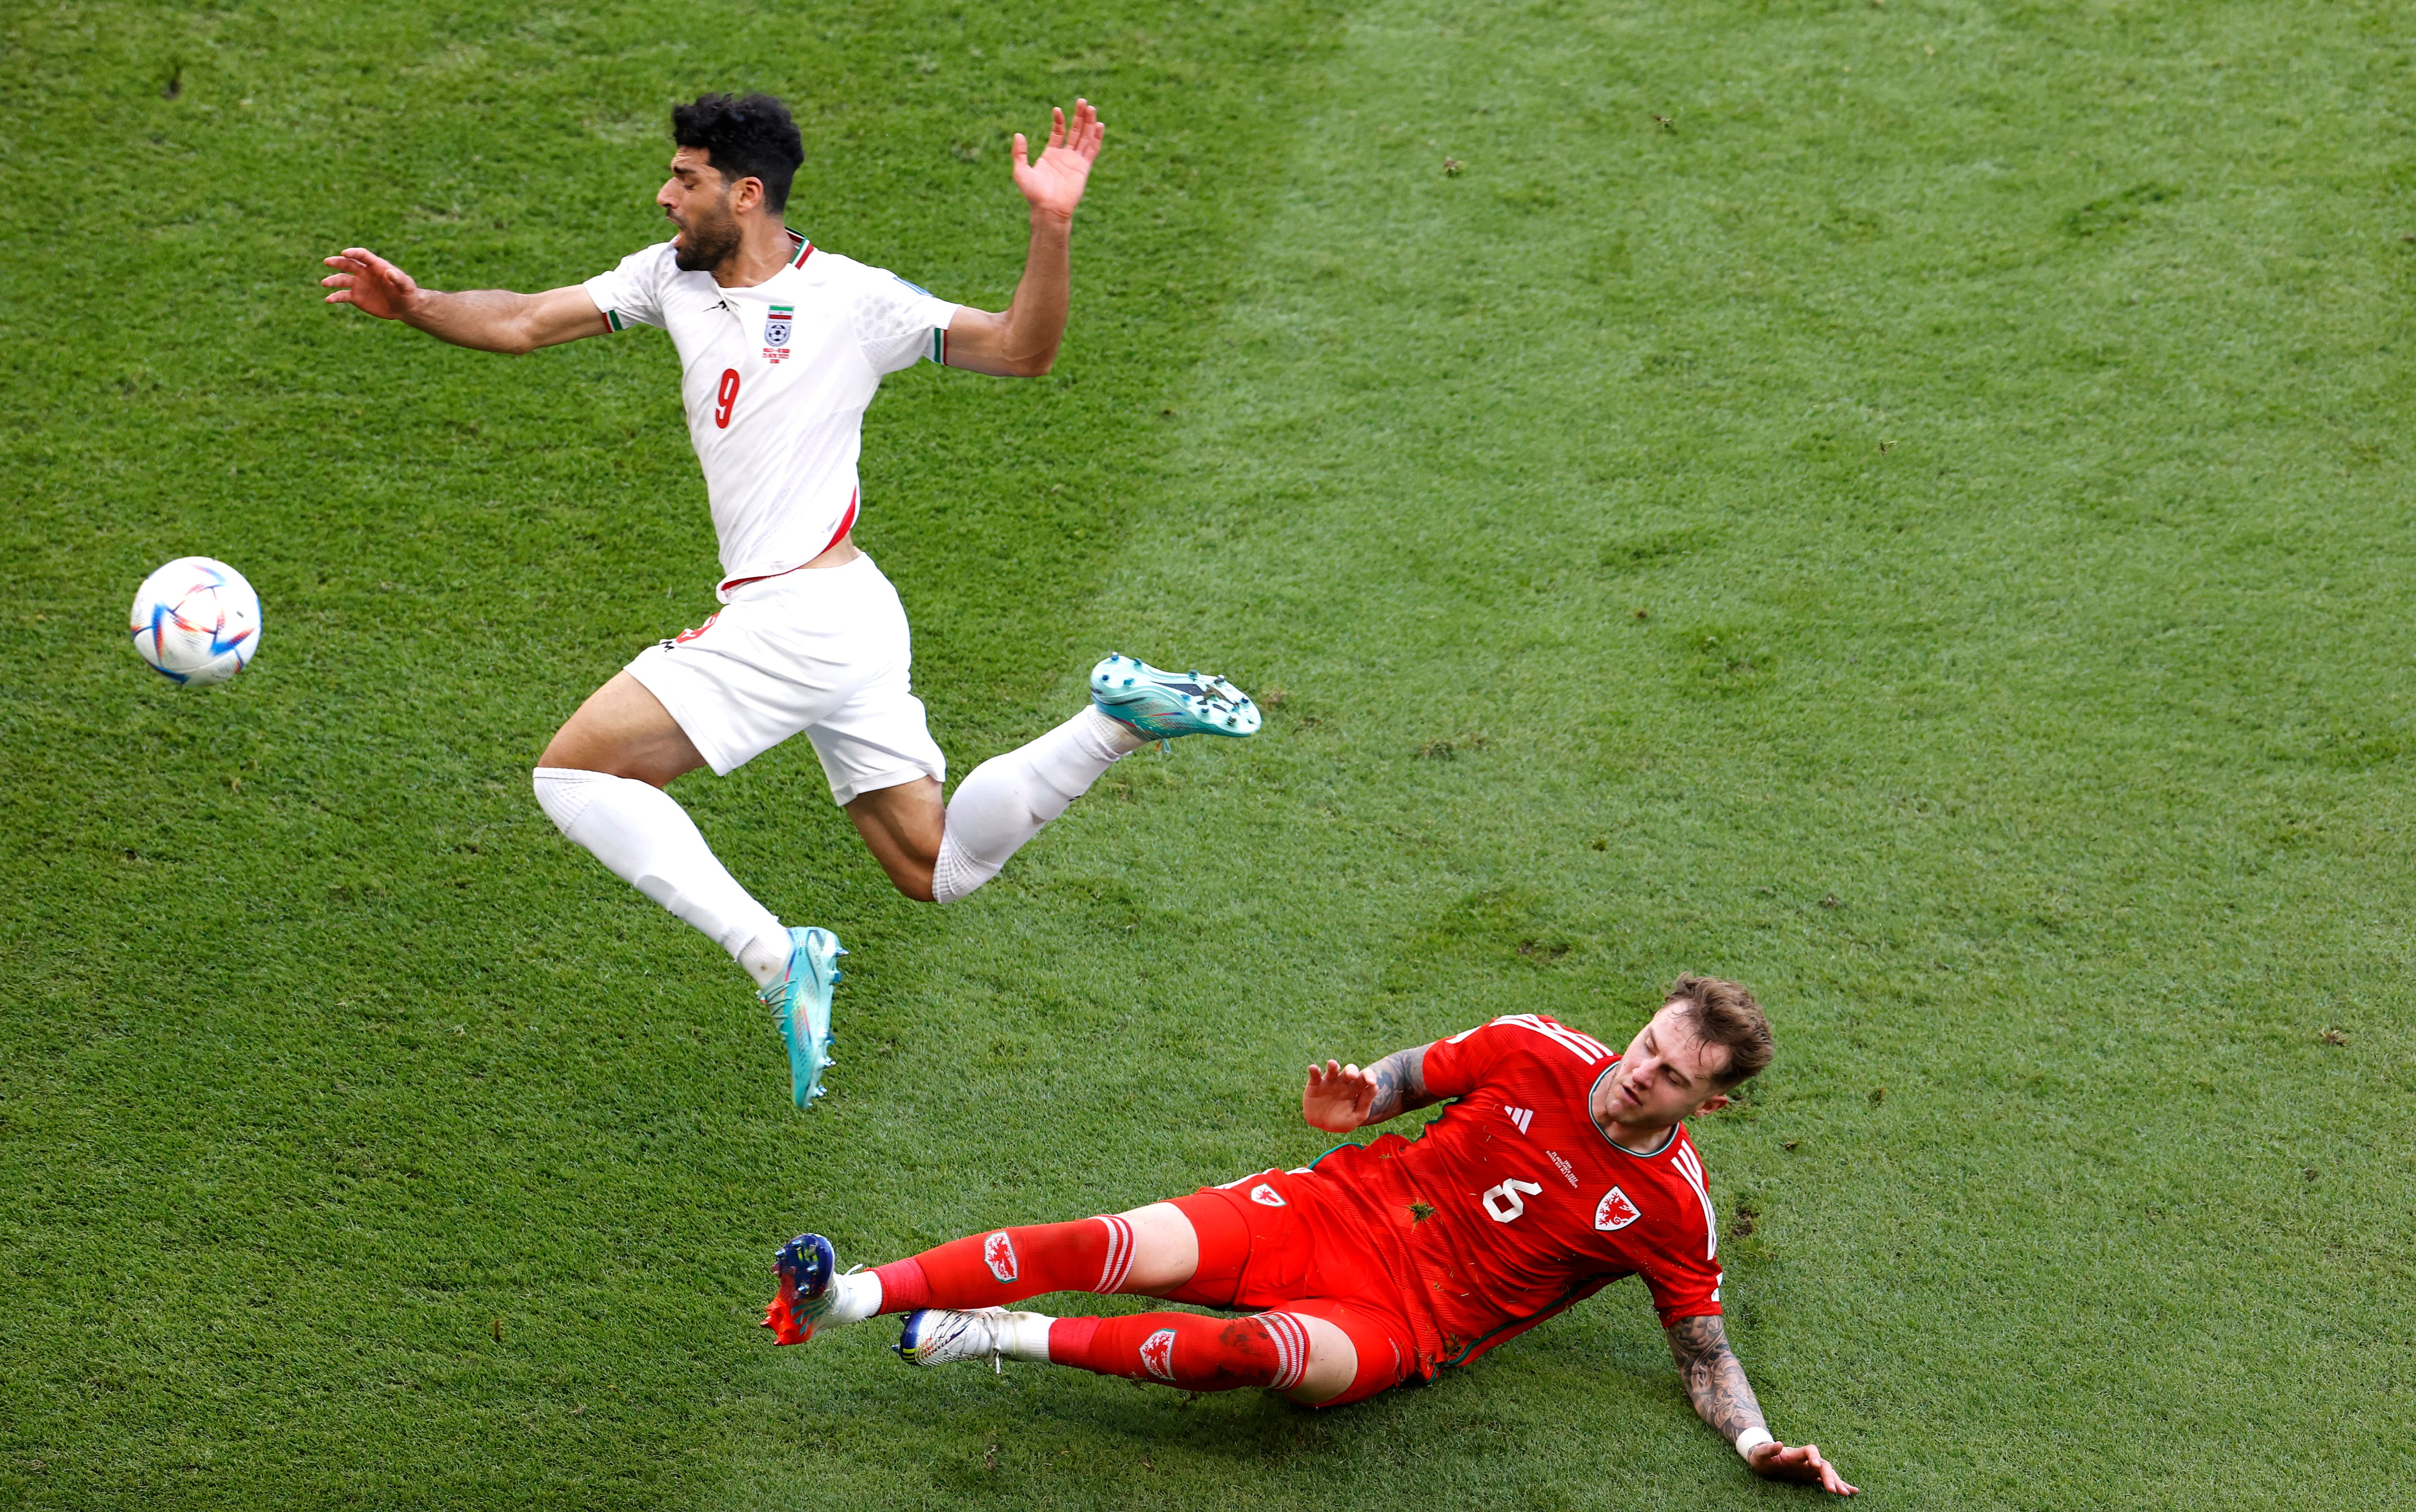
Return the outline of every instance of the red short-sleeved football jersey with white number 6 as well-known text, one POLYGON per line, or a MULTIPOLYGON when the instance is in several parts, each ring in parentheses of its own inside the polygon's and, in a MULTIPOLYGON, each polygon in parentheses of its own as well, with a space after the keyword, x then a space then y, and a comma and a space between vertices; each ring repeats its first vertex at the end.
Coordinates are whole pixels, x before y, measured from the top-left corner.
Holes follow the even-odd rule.
POLYGON ((1541 1014, 1425 1048, 1425 1089, 1459 1101, 1416 1140, 1317 1162, 1406 1249, 1442 1365, 1643 1275, 1662 1326, 1720 1312, 1720 1234, 1686 1126, 1636 1155, 1587 1113, 1619 1053, 1541 1014))

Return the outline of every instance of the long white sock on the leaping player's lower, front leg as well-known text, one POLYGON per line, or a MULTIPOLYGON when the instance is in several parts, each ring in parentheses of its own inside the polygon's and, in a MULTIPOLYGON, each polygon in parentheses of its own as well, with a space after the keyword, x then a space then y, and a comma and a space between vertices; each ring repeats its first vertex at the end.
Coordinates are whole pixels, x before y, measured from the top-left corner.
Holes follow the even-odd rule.
POLYGON ((788 969, 788 932, 780 920, 713 860, 696 821, 662 787, 541 766, 536 804, 568 841, 611 867, 614 877, 727 949, 759 985, 788 969), (773 954, 778 961, 766 971, 763 961, 773 954))

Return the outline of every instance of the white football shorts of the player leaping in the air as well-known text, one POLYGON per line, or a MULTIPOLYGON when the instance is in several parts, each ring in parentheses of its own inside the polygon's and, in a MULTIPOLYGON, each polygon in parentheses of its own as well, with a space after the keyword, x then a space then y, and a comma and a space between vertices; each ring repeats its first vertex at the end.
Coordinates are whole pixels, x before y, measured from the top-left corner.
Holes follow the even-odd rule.
POLYGON ((831 802, 947 778, 923 700, 906 686, 906 606, 870 556, 730 589, 720 613, 650 645, 628 674, 662 700, 715 775, 800 729, 831 802))

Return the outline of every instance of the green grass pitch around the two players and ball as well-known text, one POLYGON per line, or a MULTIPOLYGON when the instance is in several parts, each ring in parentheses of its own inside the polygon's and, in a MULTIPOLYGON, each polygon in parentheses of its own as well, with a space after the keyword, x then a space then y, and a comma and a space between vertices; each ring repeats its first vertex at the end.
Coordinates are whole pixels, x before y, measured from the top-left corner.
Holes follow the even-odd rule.
POLYGON ((1684 969, 1773 1010, 1732 1333, 1865 1505, 2406 1505, 2411 12, 1005 10, 0 10, 0 1507, 1807 1505, 1636 1283, 1334 1415, 754 1328, 802 1227, 1290 1164, 1312 1056, 1684 969), (855 952, 812 1116, 527 785, 710 609, 667 341, 312 283, 606 268, 708 87, 993 307, 1102 104, 1058 372, 894 379, 863 539, 959 773, 1111 647, 1271 705, 945 913, 805 742, 684 780, 855 952), (123 645, 181 553, 230 688, 123 645))

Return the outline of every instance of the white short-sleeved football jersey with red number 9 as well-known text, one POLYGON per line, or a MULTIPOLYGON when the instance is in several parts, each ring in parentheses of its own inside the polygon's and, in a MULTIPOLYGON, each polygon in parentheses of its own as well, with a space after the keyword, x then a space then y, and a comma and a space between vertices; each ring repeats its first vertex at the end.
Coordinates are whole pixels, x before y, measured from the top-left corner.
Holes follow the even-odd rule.
POLYGON ((722 599, 802 568, 855 524, 855 459, 882 374, 947 360, 957 307, 904 278, 821 251, 725 290, 684 273, 662 242, 582 287, 614 331, 660 326, 679 348, 689 440, 722 543, 722 599))

